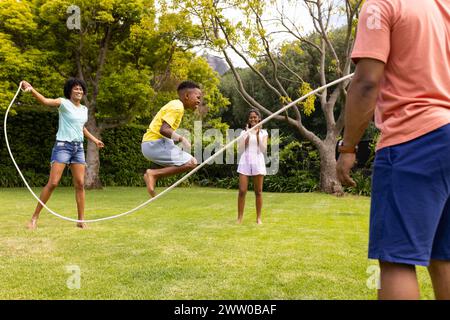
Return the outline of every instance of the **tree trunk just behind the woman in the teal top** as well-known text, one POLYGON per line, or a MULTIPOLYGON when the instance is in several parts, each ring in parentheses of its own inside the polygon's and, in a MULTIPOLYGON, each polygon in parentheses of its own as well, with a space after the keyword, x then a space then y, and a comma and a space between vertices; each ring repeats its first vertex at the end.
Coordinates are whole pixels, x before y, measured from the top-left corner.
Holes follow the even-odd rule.
MULTIPOLYGON (((98 139, 100 137, 100 130, 97 125, 91 121, 87 123, 86 128, 98 139)), ((88 141, 86 152, 86 177, 84 186, 86 189, 101 189, 102 183, 100 181, 100 153, 92 141, 88 141)))

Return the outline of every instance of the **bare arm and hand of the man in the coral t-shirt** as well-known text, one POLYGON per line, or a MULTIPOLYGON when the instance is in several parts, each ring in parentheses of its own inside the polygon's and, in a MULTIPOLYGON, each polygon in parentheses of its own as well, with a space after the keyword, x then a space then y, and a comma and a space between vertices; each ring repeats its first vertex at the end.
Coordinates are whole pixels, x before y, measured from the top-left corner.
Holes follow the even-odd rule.
MULTIPOLYGON (((375 59, 361 59, 356 65, 355 75, 347 93, 345 105, 344 146, 356 146, 370 121, 373 119, 375 105, 383 78, 385 64, 375 59)), ((354 186, 350 170, 355 164, 354 153, 339 155, 337 177, 344 185, 354 186)))

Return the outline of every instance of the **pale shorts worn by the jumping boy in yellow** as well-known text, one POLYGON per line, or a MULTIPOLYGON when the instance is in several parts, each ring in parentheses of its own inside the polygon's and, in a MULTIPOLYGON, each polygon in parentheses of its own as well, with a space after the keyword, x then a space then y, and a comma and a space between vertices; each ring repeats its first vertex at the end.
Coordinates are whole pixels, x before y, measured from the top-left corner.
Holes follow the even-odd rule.
POLYGON ((163 167, 179 167, 193 158, 167 138, 143 142, 141 150, 144 157, 163 167))

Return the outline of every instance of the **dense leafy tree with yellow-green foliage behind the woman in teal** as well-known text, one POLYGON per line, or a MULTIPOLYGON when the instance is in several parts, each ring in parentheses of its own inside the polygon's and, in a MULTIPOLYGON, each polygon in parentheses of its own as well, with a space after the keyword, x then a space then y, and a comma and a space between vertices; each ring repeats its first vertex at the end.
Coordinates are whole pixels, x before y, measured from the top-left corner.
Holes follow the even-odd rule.
MULTIPOLYGON (((0 101, 23 78, 61 96, 64 80, 77 76, 88 84, 86 127, 97 137, 149 118, 187 77, 205 85, 206 103, 224 107, 217 74, 189 52, 199 34, 186 13, 163 4, 157 14, 154 0, 2 0, 0 101)), ((86 160, 86 187, 98 188, 99 151, 90 141, 86 160)))

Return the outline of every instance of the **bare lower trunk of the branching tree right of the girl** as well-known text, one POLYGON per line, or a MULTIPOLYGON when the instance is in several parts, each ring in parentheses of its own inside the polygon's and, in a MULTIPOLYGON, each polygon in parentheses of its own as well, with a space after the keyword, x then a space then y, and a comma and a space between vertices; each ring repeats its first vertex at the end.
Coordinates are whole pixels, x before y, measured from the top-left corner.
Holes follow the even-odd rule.
POLYGON ((326 140, 319 148, 320 190, 329 194, 343 195, 344 190, 336 175, 336 139, 326 140))

